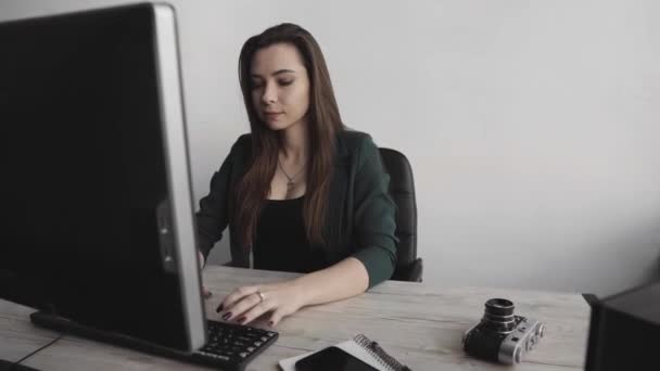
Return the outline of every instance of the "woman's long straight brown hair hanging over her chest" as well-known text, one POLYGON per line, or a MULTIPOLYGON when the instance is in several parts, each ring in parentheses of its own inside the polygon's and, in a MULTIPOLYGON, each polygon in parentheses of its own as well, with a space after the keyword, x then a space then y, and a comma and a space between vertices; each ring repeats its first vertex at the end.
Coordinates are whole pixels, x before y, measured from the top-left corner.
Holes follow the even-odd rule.
POLYGON ((284 23, 253 36, 241 49, 239 80, 252 130, 252 159, 236 193, 234 218, 239 241, 250 248, 256 234, 256 223, 270 191, 280 150, 279 135, 257 116, 252 101, 251 67, 254 53, 275 43, 293 44, 301 53, 309 78, 308 168, 303 204, 303 220, 310 243, 322 244, 322 228, 328 208, 337 135, 344 130, 330 74, 321 49, 304 28, 284 23))

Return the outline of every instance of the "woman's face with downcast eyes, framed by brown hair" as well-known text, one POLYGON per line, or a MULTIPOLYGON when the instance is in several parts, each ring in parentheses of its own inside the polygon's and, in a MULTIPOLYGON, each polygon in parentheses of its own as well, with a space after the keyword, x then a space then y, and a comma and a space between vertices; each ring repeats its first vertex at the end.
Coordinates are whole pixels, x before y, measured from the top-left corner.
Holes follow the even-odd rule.
POLYGON ((259 49, 254 53, 250 73, 252 103, 271 130, 306 123, 309 78, 293 44, 275 43, 259 49))

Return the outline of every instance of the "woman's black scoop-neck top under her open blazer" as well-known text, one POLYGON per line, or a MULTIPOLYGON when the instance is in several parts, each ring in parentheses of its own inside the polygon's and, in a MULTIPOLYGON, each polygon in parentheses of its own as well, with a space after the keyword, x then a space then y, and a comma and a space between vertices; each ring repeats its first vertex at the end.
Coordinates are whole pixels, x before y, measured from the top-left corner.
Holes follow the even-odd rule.
POLYGON ((268 200, 256 226, 254 268, 308 273, 327 267, 320 250, 313 250, 303 222, 304 196, 268 200))

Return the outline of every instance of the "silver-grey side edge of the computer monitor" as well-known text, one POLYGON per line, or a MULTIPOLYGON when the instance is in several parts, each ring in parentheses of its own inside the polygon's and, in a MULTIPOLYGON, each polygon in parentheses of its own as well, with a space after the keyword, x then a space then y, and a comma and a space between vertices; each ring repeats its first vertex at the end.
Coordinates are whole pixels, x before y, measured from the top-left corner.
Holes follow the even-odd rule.
POLYGON ((196 252, 177 24, 172 5, 164 3, 151 5, 155 20, 156 78, 175 241, 175 256, 165 254, 163 264, 167 264, 168 261, 165 260, 170 258, 176 263, 189 350, 196 350, 206 343, 206 320, 196 252))

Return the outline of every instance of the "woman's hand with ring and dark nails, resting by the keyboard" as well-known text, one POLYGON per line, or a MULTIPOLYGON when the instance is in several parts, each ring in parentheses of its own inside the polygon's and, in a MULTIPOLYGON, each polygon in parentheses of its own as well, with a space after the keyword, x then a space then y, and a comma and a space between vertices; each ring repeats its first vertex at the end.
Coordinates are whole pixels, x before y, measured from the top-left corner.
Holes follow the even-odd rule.
POLYGON ((245 324, 264 316, 269 327, 304 306, 303 291, 294 281, 236 289, 217 308, 226 321, 245 324))

